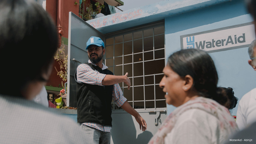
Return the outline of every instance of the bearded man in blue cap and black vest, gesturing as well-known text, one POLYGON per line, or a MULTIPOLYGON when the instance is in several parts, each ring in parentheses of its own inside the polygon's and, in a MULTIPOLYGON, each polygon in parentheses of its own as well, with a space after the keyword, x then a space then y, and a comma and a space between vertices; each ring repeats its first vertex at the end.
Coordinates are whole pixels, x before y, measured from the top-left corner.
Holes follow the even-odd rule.
POLYGON ((86 131, 87 139, 91 143, 110 143, 111 130, 111 101, 133 115, 140 125, 140 129, 147 129, 146 121, 126 101, 118 83, 124 82, 130 89, 131 82, 127 77, 115 76, 102 63, 105 54, 104 42, 92 36, 86 43, 88 63, 77 67, 77 122, 86 131))

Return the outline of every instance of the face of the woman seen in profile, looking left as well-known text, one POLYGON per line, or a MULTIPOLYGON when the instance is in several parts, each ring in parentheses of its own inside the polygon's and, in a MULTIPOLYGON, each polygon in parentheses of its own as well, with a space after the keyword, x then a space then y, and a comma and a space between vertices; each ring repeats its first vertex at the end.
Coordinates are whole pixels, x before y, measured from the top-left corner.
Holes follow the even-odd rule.
POLYGON ((186 81, 175 73, 170 66, 165 66, 163 73, 164 77, 159 86, 163 88, 163 92, 166 92, 166 103, 179 107, 185 103, 186 95, 182 86, 185 85, 186 81))

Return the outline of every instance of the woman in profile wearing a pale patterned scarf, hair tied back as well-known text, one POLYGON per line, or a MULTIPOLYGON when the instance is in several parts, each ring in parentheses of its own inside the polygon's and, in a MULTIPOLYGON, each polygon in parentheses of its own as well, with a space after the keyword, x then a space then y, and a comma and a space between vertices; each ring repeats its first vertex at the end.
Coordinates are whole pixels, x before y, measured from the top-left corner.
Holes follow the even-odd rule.
POLYGON ((237 131, 227 93, 217 87, 214 62, 205 51, 181 50, 167 60, 159 83, 166 102, 177 107, 149 144, 222 143, 237 131), (226 106, 226 107, 224 107, 226 106))

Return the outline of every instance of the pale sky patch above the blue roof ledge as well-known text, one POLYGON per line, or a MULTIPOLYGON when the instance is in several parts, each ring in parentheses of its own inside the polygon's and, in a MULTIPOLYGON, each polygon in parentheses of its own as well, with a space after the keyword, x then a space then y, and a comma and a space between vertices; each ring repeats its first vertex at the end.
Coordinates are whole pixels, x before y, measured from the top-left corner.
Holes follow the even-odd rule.
MULTIPOLYGON (((121 1, 124 2, 124 5, 118 6, 118 8, 123 11, 127 11, 127 10, 133 9, 135 7, 149 5, 149 4, 161 2, 164 0, 121 0, 121 1)), ((122 12, 122 11, 116 9, 116 12, 122 12)))

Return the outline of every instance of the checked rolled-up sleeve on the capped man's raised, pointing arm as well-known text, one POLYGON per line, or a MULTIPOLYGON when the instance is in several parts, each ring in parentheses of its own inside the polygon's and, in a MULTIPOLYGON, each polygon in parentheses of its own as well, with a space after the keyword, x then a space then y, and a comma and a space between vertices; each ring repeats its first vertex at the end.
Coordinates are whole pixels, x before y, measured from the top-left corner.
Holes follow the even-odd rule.
POLYGON ((102 80, 106 74, 101 74, 99 71, 93 70, 89 65, 81 64, 77 67, 77 81, 91 84, 91 85, 102 85, 102 80))

